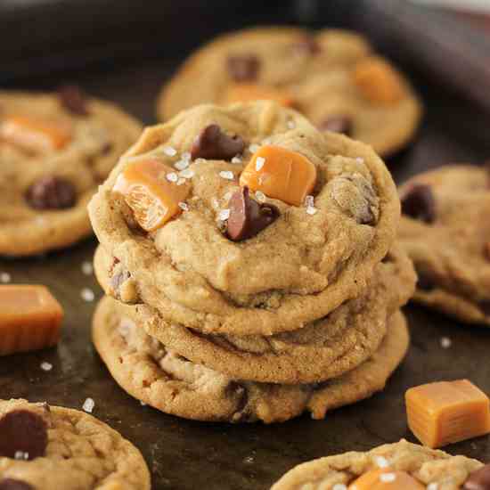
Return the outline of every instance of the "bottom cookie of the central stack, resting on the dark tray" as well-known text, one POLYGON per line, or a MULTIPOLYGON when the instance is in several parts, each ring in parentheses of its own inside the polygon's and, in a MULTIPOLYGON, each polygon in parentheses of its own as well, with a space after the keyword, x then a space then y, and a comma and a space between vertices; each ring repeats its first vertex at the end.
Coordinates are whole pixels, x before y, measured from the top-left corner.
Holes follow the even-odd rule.
POLYGON ((129 318, 128 308, 110 297, 97 306, 93 339, 103 362, 131 396, 162 412, 199 421, 272 423, 305 411, 322 419, 328 410, 384 388, 409 344, 404 316, 398 312, 372 357, 338 378, 309 385, 233 380, 167 349, 129 318))

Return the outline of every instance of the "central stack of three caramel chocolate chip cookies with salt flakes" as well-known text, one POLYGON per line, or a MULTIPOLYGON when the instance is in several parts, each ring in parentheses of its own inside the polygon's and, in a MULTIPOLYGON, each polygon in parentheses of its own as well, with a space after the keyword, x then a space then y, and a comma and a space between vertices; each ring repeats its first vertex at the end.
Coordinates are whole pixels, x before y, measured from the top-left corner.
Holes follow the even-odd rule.
POLYGON ((409 339, 400 203, 372 149, 275 102, 150 127, 89 205, 94 344, 144 404, 202 421, 323 418, 409 339))

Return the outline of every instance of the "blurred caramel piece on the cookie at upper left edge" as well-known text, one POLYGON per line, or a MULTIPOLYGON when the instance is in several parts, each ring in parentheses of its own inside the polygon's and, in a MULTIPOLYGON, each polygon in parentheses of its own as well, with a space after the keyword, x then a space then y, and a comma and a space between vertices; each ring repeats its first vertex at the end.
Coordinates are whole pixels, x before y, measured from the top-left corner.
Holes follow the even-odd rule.
POLYGON ((65 121, 9 116, 0 123, 0 140, 33 153, 60 150, 70 139, 71 128, 65 121))

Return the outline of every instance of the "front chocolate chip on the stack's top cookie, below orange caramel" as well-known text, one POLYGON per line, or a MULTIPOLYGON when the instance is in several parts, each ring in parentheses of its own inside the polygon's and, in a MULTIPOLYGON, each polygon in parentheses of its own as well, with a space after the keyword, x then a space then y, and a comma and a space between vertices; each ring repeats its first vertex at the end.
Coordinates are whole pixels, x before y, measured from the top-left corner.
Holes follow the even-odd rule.
POLYGON ((226 235, 230 240, 242 241, 257 235, 279 217, 273 204, 258 203, 249 197, 249 188, 242 187, 230 199, 230 217, 226 235))

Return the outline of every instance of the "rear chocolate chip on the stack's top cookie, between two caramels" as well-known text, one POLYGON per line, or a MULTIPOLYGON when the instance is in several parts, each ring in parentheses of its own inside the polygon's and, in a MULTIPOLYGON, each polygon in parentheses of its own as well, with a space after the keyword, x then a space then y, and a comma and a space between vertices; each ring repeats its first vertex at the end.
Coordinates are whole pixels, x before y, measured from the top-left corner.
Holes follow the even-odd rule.
POLYGON ((245 149, 240 136, 228 136, 217 124, 210 124, 201 130, 192 143, 191 158, 194 159, 233 159, 245 149))

